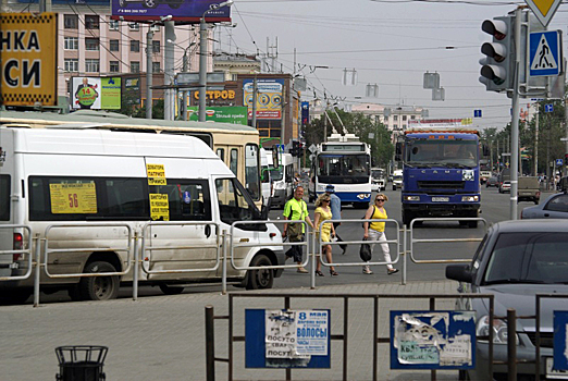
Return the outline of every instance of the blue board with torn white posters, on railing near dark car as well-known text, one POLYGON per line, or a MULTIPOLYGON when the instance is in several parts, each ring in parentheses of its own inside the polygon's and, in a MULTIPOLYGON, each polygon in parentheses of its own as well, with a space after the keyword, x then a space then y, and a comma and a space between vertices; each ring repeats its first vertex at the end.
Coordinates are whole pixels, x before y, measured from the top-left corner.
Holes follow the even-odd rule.
POLYGON ((474 311, 391 311, 391 369, 472 369, 474 311))

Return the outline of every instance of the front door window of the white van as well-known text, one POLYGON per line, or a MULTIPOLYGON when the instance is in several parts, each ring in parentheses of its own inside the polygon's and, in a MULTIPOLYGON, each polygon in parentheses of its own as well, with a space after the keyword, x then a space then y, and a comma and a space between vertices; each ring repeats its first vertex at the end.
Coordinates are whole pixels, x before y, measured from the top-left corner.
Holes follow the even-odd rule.
POLYGON ((235 221, 259 219, 257 207, 245 195, 246 190, 236 179, 218 179, 215 188, 221 221, 231 224, 235 221))

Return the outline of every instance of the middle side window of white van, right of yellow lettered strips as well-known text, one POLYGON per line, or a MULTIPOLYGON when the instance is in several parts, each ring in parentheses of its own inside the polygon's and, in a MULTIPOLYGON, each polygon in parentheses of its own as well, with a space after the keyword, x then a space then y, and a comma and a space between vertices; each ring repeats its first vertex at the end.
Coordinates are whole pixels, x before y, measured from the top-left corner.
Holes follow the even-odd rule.
POLYGON ((152 185, 150 193, 168 195, 170 221, 211 221, 211 198, 206 180, 168 179, 152 185))

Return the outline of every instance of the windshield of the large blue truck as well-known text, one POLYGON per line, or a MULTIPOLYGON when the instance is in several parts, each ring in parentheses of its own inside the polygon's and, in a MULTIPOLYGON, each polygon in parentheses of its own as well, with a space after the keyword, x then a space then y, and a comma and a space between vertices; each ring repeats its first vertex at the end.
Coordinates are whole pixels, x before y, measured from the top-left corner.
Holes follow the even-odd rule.
POLYGON ((476 140, 413 140, 406 147, 406 163, 410 165, 478 165, 476 140))

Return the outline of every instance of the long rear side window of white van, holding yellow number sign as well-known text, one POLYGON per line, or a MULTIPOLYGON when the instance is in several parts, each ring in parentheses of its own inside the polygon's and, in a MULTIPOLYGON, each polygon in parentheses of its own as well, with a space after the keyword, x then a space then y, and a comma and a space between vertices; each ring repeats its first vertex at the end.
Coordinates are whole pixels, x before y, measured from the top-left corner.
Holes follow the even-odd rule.
POLYGON ((147 220, 146 179, 29 177, 29 220, 147 220))

